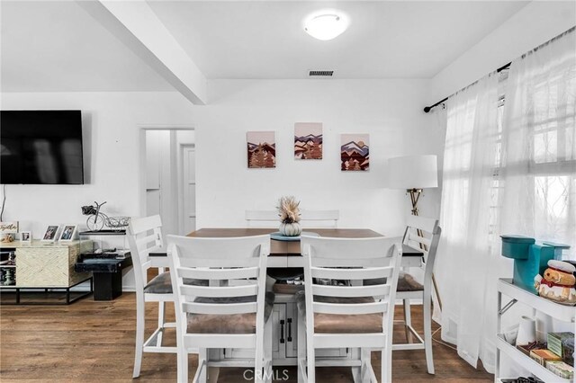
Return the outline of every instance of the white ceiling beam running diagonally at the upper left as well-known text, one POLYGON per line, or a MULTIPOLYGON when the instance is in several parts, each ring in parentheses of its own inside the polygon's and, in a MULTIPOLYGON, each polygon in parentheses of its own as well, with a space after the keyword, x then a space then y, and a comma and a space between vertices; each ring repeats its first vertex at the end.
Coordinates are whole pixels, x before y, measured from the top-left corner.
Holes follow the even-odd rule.
POLYGON ((146 2, 76 2, 190 102, 206 103, 206 78, 146 2))

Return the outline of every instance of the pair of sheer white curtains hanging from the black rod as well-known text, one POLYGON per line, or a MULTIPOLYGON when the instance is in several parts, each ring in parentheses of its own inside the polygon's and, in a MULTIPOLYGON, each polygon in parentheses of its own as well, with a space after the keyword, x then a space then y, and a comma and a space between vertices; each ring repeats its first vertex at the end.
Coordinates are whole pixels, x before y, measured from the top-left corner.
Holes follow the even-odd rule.
POLYGON ((490 372, 496 281, 512 273, 500 234, 576 246, 575 47, 572 28, 515 60, 500 87, 491 74, 447 102, 442 338, 490 372))

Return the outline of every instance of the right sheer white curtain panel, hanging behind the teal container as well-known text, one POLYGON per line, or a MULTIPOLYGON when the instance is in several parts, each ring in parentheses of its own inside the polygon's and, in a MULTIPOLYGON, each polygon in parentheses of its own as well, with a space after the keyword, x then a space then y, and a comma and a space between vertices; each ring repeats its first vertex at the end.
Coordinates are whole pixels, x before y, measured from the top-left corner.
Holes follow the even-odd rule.
POLYGON ((576 33, 512 63, 502 134, 501 230, 576 254, 576 33))

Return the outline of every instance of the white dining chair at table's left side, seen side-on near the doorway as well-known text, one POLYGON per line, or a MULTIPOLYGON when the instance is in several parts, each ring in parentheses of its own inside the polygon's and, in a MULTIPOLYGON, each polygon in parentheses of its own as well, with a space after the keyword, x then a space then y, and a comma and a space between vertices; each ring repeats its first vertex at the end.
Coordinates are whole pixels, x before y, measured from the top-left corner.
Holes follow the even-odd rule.
MULTIPOLYGON (((134 283, 136 289, 136 351, 132 377, 138 378, 143 352, 176 352, 175 346, 162 344, 166 328, 175 328, 175 322, 166 322, 166 302, 174 302, 170 273, 164 268, 157 269, 157 276, 148 279, 150 253, 165 252, 162 239, 162 220, 160 216, 131 218, 128 227, 130 255, 134 265, 134 283), (156 330, 144 341, 145 304, 158 303, 156 330)), ((188 281, 202 283, 202 281, 188 281)))

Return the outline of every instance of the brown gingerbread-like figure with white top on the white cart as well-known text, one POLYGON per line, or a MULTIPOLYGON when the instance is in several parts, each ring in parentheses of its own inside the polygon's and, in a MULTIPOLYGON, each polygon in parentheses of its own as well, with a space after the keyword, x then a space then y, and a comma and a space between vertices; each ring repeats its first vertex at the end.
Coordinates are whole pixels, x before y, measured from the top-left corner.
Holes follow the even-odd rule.
POLYGON ((548 261, 544 278, 538 274, 534 279, 538 295, 563 305, 576 305, 576 289, 574 289, 576 278, 573 272, 576 272, 576 268, 570 263, 548 261))

